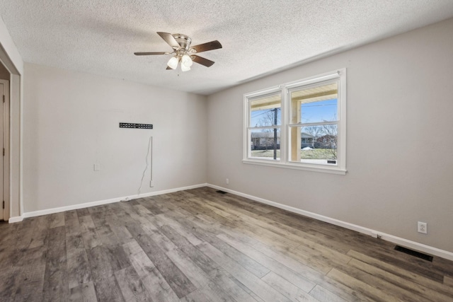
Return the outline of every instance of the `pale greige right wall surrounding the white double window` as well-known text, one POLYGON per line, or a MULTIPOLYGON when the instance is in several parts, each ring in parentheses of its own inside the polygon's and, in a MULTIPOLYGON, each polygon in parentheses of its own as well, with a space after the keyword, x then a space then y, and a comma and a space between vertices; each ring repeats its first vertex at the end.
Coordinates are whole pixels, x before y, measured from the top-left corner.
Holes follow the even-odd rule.
POLYGON ((453 252, 452 33, 450 19, 210 95, 208 182, 453 252), (347 175, 241 163, 244 93, 342 67, 347 175))

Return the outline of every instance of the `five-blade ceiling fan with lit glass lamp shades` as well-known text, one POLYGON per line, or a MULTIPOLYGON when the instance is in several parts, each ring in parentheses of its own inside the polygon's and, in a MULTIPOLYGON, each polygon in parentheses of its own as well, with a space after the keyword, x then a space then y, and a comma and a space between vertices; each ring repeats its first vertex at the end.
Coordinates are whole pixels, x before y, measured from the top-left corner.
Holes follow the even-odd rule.
POLYGON ((222 48, 219 41, 214 40, 211 42, 203 43, 200 45, 190 46, 192 39, 187 35, 180 33, 162 33, 157 32, 165 42, 173 48, 173 52, 134 52, 136 56, 150 56, 156 54, 172 54, 173 57, 167 63, 167 69, 176 69, 180 63, 181 71, 190 70, 193 62, 202 64, 203 66, 210 67, 214 64, 213 61, 197 56, 199 52, 207 52, 208 50, 217 50, 222 48))

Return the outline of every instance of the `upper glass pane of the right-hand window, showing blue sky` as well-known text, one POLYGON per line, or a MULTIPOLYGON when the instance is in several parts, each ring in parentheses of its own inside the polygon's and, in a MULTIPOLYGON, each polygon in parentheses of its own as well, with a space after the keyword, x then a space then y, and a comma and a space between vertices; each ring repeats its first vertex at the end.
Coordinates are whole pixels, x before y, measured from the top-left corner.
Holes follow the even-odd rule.
POLYGON ((338 83, 291 93, 291 123, 332 122, 337 117, 338 83))

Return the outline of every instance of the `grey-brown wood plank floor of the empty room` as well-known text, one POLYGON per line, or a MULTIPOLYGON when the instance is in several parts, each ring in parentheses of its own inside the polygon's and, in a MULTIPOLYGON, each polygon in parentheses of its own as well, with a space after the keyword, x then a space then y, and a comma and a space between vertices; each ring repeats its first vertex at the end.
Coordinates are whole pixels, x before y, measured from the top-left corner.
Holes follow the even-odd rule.
POLYGON ((453 301, 451 261, 207 187, 0 235, 0 301, 453 301))

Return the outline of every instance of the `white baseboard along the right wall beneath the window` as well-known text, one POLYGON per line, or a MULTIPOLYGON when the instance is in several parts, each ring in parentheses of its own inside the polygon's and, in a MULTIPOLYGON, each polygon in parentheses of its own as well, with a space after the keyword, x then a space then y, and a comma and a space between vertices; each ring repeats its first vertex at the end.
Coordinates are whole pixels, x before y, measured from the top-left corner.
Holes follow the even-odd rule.
POLYGON ((357 226, 356 224, 348 223, 348 222, 345 222, 345 221, 340 221, 338 219, 333 219, 333 218, 328 217, 328 216, 323 216, 323 215, 316 214, 316 213, 313 213, 313 212, 310 212, 310 211, 304 211, 302 209, 289 207, 289 206, 287 206, 285 204, 279 204, 278 202, 271 202, 268 199, 263 199, 263 198, 256 197, 256 196, 253 196, 253 195, 244 194, 244 193, 237 192, 237 191, 234 191, 234 190, 229 190, 226 187, 219 187, 217 185, 211 185, 211 184, 207 184, 207 186, 208 187, 212 187, 213 189, 216 189, 216 190, 222 190, 224 192, 229 192, 231 194, 236 194, 236 195, 239 195, 241 197, 246 197, 246 198, 252 199, 252 200, 254 200, 256 202, 260 202, 262 204, 268 204, 270 206, 277 207, 277 208, 280 208, 280 209, 284 209, 284 210, 287 210, 287 211, 291 211, 291 212, 296 213, 296 214, 301 214, 301 215, 304 215, 304 216, 311 217, 313 219, 317 219, 317 220, 320 220, 320 221, 324 221, 324 222, 327 222, 327 223, 334 224, 336 226, 341 226, 343 228, 348 228, 348 229, 350 229, 352 231, 357 231, 359 233, 364 233, 364 234, 367 234, 367 235, 370 235, 370 236, 372 236, 373 234, 377 233, 377 234, 379 234, 379 236, 381 236, 381 239, 390 241, 391 243, 396 243, 397 245, 403 245, 406 248, 411 248, 413 250, 418 250, 420 252, 425 252, 425 253, 428 253, 430 255, 435 255, 435 256, 438 256, 438 257, 445 258, 447 260, 453 260, 453 252, 449 252, 447 250, 440 250, 439 248, 433 248, 432 246, 429 246, 429 245, 424 245, 422 243, 417 243, 415 241, 411 241, 411 240, 407 240, 407 239, 400 238, 400 237, 397 237, 397 236, 393 236, 393 235, 390 235, 390 234, 382 233, 380 231, 372 230, 371 228, 365 228, 363 226, 357 226))

